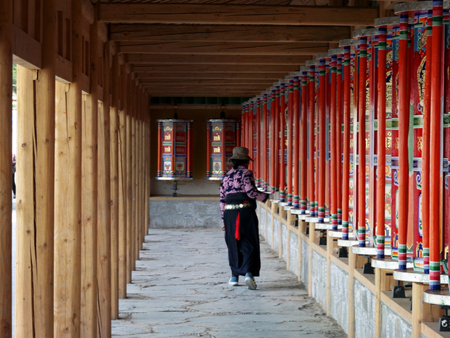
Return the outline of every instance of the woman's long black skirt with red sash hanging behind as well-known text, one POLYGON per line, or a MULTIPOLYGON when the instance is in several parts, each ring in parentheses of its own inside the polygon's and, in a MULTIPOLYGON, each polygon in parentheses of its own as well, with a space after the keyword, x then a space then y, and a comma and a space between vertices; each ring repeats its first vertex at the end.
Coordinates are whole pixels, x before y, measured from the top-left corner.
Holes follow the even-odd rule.
POLYGON ((225 242, 228 247, 231 274, 245 276, 250 272, 253 276, 260 276, 260 237, 255 199, 251 199, 245 193, 234 193, 226 195, 225 202, 252 204, 246 208, 224 211, 225 242))

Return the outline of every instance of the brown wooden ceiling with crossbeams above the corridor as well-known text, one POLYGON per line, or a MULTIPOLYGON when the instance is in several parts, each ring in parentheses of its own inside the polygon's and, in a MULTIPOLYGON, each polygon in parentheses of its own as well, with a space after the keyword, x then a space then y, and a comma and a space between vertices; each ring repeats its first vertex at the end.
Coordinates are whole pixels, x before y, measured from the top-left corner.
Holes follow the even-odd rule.
POLYGON ((150 96, 253 97, 391 4, 357 1, 103 0, 98 13, 150 96))

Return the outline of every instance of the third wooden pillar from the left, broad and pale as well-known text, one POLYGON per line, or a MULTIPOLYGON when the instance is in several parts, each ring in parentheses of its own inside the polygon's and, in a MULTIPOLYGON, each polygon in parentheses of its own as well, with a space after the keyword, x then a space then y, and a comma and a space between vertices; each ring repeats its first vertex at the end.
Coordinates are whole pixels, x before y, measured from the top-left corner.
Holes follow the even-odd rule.
POLYGON ((73 82, 56 85, 55 337, 80 337, 82 9, 72 1, 73 82))

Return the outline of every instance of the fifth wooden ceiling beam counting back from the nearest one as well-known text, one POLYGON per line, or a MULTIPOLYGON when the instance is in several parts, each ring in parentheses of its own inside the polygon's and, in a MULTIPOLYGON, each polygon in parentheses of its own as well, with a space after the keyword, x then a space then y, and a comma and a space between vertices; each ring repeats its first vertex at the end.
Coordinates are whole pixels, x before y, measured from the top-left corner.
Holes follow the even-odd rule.
MULTIPOLYGON (((275 65, 244 65, 244 64, 147 64, 142 66, 134 66, 134 73, 289 73, 298 71, 300 66, 275 66, 275 65)), ((182 75, 180 75, 182 77, 182 75)))

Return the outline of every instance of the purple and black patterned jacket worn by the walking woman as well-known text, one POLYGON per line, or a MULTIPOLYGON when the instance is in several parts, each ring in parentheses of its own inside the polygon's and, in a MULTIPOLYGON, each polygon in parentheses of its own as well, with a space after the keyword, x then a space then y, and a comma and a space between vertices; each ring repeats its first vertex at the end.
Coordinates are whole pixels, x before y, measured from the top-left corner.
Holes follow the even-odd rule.
POLYGON ((255 185, 253 171, 239 166, 237 169, 231 168, 222 179, 220 184, 220 214, 224 219, 225 197, 233 193, 246 193, 251 199, 266 201, 269 194, 258 191, 255 185))

